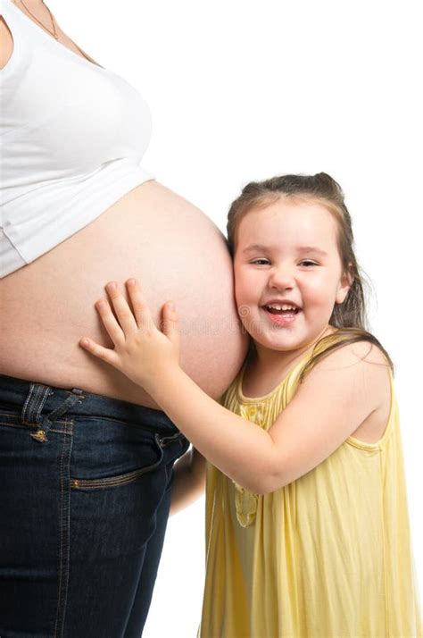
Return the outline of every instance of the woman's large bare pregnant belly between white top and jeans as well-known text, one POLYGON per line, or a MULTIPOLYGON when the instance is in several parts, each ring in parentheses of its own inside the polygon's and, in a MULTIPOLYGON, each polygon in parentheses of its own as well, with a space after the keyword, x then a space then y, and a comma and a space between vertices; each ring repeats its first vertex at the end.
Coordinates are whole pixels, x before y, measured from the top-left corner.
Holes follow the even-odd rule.
POLYGON ((218 398, 245 357, 232 265, 220 231, 156 181, 122 197, 95 222, 0 284, 0 374, 158 407, 137 385, 79 347, 111 347, 94 303, 104 284, 136 277, 157 323, 167 299, 181 325, 181 365, 218 398))

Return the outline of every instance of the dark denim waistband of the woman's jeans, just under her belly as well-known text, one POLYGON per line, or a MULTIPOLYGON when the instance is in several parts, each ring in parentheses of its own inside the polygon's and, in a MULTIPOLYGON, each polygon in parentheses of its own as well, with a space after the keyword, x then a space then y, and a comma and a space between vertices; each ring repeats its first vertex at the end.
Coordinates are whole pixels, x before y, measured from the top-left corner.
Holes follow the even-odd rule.
MULTIPOLYGON (((177 427, 162 410, 111 399, 100 394, 92 394, 80 388, 64 390, 0 374, 1 403, 21 410, 22 407, 25 409, 25 404, 29 403, 29 399, 34 399, 35 396, 40 397, 39 403, 43 411, 47 410, 50 413, 53 413, 54 410, 61 411, 63 403, 67 402, 69 407, 66 412, 69 416, 102 416, 119 419, 129 424, 137 424, 154 432, 170 434, 178 432, 177 427)), ((31 403, 34 405, 34 400, 31 403)))

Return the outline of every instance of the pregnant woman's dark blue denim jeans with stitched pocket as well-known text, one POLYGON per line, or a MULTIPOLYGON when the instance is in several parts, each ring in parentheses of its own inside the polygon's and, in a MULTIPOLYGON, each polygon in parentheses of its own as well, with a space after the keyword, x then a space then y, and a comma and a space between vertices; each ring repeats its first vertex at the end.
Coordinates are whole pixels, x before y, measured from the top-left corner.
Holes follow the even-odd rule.
POLYGON ((189 443, 160 410, 0 375, 1 638, 139 638, 189 443))

